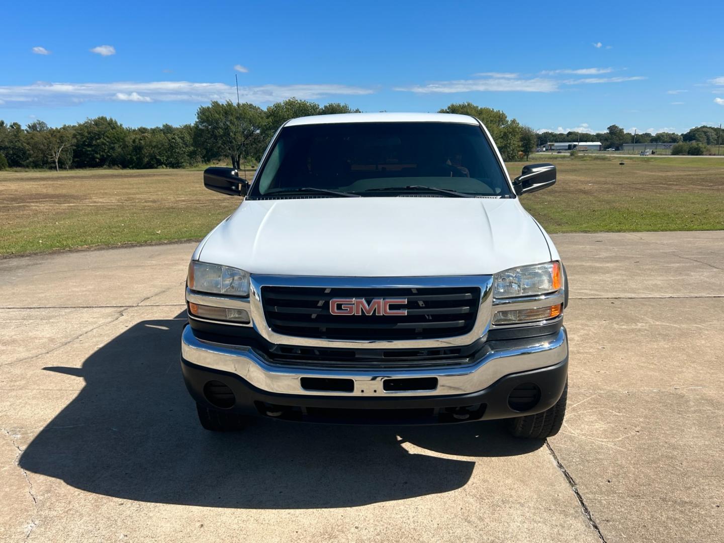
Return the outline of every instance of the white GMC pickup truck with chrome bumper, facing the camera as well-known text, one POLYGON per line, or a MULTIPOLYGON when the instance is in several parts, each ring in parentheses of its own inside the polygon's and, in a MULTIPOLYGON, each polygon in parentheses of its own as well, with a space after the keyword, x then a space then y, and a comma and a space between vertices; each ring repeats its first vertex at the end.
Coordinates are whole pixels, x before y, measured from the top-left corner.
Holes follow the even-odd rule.
POLYGON ((285 123, 188 269, 181 364, 204 428, 508 418, 558 432, 565 269, 478 119, 343 114, 285 123))

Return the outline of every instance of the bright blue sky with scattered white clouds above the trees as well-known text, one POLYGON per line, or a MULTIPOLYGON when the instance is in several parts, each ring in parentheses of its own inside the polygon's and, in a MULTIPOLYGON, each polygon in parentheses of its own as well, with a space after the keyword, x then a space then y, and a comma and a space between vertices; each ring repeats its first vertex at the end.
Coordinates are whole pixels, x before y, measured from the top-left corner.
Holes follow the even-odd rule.
POLYGON ((9 2, 0 119, 193 122, 211 99, 472 101, 536 130, 724 122, 724 1, 9 2), (236 70, 235 70, 236 67, 236 70))

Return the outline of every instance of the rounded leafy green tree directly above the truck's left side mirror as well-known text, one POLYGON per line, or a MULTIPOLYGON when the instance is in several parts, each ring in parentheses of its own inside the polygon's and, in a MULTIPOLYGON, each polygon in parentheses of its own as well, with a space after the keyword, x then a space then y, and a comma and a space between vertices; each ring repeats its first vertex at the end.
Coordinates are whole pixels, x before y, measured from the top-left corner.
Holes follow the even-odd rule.
POLYGON ((245 156, 261 154, 264 111, 254 104, 225 104, 212 101, 196 111, 195 142, 206 159, 228 156, 232 167, 240 168, 245 156))

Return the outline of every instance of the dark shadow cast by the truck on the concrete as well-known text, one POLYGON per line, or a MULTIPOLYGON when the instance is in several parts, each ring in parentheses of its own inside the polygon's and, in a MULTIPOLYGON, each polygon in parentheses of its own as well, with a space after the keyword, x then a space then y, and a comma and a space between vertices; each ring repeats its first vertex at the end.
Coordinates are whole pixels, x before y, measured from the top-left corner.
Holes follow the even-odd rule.
POLYGON ((339 508, 463 487, 475 458, 520 455, 542 441, 500 422, 452 426, 326 426, 260 419, 206 432, 178 361, 185 313, 143 321, 82 369, 46 370, 85 387, 33 442, 20 466, 126 500, 221 508, 339 508), (419 450, 419 449, 424 450, 419 450))

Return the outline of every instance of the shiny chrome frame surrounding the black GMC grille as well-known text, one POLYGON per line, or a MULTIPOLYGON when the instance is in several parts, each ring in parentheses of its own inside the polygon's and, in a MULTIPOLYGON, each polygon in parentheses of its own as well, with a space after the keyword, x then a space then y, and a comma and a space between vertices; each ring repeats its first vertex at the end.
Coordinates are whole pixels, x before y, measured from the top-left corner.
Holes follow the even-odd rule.
POLYGON ((300 345, 322 348, 445 348, 451 345, 470 345, 487 334, 490 327, 492 276, 470 275, 453 277, 303 277, 291 275, 251 275, 249 298, 251 300, 251 321, 254 329, 265 340, 277 345, 300 345), (274 287, 327 287, 327 288, 454 288, 477 287, 481 296, 473 329, 467 334, 455 337, 424 340, 335 340, 327 338, 297 337, 278 334, 269 327, 261 302, 261 288, 274 287))

